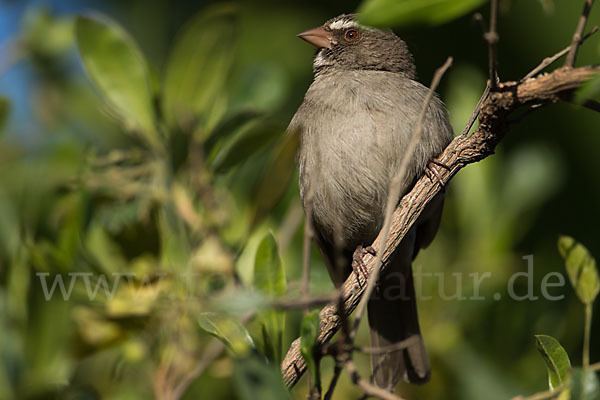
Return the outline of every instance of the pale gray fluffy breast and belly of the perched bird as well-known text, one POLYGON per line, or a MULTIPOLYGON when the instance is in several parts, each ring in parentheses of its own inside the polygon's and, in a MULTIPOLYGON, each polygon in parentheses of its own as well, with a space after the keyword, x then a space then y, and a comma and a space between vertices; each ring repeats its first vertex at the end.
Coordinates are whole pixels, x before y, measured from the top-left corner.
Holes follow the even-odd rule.
POLYGON ((346 93, 322 96, 301 130, 300 186, 304 206, 326 240, 344 247, 372 241, 381 228, 390 182, 389 136, 372 111, 346 93), (327 100, 330 100, 329 102, 327 100))

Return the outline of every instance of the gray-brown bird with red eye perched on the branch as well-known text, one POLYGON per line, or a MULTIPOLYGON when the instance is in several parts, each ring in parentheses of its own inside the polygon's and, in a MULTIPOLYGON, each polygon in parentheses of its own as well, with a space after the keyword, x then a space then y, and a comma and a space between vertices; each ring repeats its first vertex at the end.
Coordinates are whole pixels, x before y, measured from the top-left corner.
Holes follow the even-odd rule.
MULTIPOLYGON (((354 250, 370 245, 381 230, 390 182, 429 89, 416 81, 406 43, 391 30, 359 24, 356 15, 341 15, 298 36, 319 50, 314 81, 288 132, 300 135, 300 196, 329 275, 339 286, 352 273, 354 250)), ((451 140, 446 108, 434 96, 401 194, 451 140)), ((374 383, 388 390, 400 380, 423 383, 430 376, 411 263, 433 240, 442 206, 439 195, 403 239, 369 299, 372 346, 412 337, 407 348, 371 357, 374 383)))

